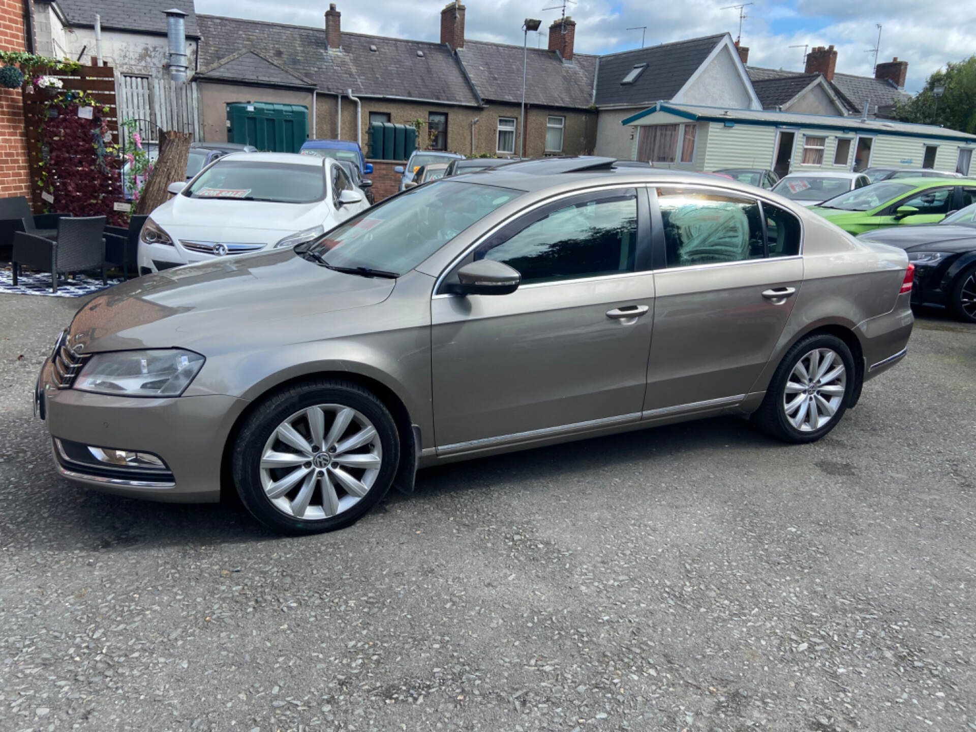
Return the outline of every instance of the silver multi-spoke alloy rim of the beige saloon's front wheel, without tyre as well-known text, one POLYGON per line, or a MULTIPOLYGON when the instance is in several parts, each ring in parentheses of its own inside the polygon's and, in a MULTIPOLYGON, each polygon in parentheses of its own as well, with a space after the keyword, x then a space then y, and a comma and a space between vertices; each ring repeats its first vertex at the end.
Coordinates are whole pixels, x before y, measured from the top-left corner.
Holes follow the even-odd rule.
POLYGON ((380 437, 363 414, 342 404, 318 404, 271 432, 261 456, 261 485, 275 508, 313 521, 359 503, 382 465, 380 437))

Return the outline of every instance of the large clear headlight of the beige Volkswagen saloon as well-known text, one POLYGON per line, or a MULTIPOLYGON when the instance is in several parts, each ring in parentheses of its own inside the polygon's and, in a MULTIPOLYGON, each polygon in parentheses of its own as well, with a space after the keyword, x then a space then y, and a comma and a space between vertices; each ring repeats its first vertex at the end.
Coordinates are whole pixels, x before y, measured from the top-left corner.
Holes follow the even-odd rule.
POLYGON ((182 348, 119 350, 88 359, 74 388, 119 396, 179 396, 204 357, 182 348))

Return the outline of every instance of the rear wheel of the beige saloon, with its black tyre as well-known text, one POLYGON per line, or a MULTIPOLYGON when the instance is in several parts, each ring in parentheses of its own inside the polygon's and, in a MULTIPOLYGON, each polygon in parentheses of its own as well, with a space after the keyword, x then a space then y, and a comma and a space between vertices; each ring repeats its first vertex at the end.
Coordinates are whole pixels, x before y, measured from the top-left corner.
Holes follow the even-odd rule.
POLYGON ((840 422, 856 378, 843 341, 828 334, 807 336, 783 357, 752 420, 784 442, 814 442, 840 422))

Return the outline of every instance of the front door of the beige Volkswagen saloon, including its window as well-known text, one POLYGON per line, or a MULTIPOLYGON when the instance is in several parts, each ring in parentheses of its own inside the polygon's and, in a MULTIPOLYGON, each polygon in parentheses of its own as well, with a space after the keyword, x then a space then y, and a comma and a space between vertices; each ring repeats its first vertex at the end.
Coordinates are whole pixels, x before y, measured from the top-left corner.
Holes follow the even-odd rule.
POLYGON ((503 296, 434 295, 439 454, 639 419, 654 317, 648 224, 642 188, 574 195, 454 267, 496 260, 522 284, 503 296))

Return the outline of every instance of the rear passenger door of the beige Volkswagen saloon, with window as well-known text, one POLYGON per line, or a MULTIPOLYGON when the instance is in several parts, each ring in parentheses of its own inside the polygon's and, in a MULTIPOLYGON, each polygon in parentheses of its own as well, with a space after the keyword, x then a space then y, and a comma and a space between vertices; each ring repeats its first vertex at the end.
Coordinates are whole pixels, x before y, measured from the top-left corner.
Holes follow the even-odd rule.
POLYGON ((748 196, 657 190, 654 340, 645 416, 740 401, 779 342, 803 278, 800 224, 748 196))

